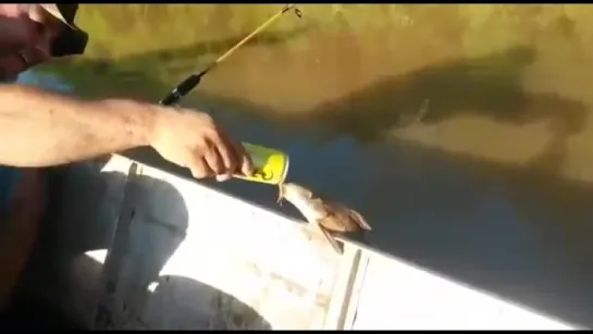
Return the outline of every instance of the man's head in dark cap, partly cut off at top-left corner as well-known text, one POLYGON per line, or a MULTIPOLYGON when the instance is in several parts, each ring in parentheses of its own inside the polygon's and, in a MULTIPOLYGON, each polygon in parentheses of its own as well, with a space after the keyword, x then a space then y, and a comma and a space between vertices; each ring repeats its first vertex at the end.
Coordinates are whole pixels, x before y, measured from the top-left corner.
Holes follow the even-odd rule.
POLYGON ((52 57, 81 54, 88 35, 75 23, 77 3, 0 3, 0 79, 52 57))

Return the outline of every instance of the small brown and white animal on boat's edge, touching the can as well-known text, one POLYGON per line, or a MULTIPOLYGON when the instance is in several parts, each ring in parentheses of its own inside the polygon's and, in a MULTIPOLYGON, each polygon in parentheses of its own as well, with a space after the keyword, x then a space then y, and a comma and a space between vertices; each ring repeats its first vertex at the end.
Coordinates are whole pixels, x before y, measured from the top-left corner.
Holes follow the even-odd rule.
POLYGON ((341 255, 344 252, 344 247, 334 238, 332 232, 371 231, 367 220, 356 210, 316 195, 310 189, 296 183, 282 183, 279 185, 277 203, 282 205, 283 199, 297 208, 307 222, 317 228, 334 250, 341 255))

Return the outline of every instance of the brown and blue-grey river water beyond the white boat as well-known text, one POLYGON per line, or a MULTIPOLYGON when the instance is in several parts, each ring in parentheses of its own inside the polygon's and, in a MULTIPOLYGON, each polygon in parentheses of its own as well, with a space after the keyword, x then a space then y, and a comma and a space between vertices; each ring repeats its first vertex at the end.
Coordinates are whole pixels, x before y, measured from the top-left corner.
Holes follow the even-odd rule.
MULTIPOLYGON (((88 54, 36 71, 82 96, 157 101, 276 10, 83 5, 88 54)), ((593 7, 301 11, 183 106, 288 152, 289 180, 365 214, 370 246, 593 325, 593 7)), ((273 187, 214 186, 296 215, 273 187)))

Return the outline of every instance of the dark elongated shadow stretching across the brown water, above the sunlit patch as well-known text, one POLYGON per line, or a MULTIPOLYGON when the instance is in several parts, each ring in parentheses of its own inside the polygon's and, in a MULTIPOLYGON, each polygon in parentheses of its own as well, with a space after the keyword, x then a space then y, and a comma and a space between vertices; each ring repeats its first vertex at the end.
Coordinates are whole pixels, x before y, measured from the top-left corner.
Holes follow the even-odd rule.
POLYGON ((429 66, 381 79, 365 89, 306 113, 316 122, 363 141, 413 123, 431 125, 459 114, 485 115, 510 124, 551 121, 554 146, 580 131, 586 107, 554 94, 526 91, 523 70, 536 58, 515 47, 484 58, 429 66))

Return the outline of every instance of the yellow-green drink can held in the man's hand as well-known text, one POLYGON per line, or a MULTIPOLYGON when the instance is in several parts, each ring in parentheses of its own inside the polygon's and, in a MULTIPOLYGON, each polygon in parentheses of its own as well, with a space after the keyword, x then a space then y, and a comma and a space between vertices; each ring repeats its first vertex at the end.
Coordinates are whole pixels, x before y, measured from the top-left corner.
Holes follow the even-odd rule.
POLYGON ((288 154, 273 148, 242 143, 251 158, 255 172, 250 176, 235 175, 237 178, 277 185, 288 174, 288 154))

